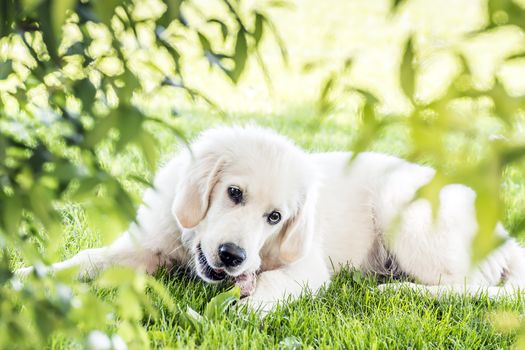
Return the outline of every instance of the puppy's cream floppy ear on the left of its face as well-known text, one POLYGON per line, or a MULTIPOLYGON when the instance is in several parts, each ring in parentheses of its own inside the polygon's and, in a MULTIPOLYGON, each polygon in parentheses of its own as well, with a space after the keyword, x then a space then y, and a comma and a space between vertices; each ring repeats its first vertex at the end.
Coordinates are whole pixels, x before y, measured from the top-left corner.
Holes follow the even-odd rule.
POLYGON ((209 153, 191 158, 171 207, 182 228, 191 228, 206 216, 210 195, 219 180, 223 159, 209 153))

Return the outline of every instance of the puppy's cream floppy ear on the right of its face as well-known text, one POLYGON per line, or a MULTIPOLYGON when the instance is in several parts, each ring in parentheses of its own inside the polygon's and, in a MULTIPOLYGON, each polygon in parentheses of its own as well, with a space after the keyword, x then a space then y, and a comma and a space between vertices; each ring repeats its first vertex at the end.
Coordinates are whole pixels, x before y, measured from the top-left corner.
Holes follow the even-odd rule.
POLYGON ((281 232, 279 258, 290 263, 302 258, 310 249, 315 230, 315 203, 317 192, 310 190, 298 212, 281 232))

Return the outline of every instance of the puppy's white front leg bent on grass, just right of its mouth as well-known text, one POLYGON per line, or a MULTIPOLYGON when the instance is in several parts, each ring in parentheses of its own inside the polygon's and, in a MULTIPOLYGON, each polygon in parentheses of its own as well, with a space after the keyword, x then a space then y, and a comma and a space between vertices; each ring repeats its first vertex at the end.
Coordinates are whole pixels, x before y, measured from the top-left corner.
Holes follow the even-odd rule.
POLYGON ((255 291, 242 299, 241 304, 266 314, 279 302, 296 299, 305 288, 316 293, 329 280, 330 274, 321 253, 312 248, 294 263, 261 273, 255 291))

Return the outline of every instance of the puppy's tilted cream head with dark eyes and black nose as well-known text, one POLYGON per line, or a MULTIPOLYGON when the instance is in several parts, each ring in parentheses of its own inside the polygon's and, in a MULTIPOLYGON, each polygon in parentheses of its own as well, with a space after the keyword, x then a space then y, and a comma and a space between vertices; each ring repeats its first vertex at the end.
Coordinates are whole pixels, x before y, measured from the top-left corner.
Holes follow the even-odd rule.
POLYGON ((208 282, 301 258, 313 235, 315 169, 266 129, 218 128, 193 143, 173 215, 197 274, 208 282))

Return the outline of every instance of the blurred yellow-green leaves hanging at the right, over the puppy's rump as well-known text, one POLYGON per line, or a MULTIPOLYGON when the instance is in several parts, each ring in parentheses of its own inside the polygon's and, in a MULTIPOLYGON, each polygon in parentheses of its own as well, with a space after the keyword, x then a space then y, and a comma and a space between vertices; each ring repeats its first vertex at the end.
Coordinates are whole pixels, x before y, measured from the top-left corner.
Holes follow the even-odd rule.
MULTIPOLYGON (((400 16, 407 1, 393 1, 391 16, 400 16)), ((468 33, 464 39, 475 40, 501 29, 515 26, 525 34, 525 8, 512 0, 489 0, 486 26, 468 33)), ((525 38, 525 37, 523 37, 525 38)), ((370 148, 374 139, 393 125, 403 126, 410 137, 412 150, 408 159, 430 164, 438 170, 434 179, 420 189, 419 198, 431 201, 434 213, 439 210, 439 192, 447 184, 462 183, 477 192, 476 209, 479 223, 478 234, 473 242, 473 260, 479 261, 502 243, 495 233, 496 224, 502 219, 503 203, 501 183, 503 171, 518 163, 525 156, 525 139, 520 129, 525 120, 525 96, 508 92, 494 77, 492 86, 477 86, 471 73, 471 62, 461 50, 460 44, 438 50, 455 55, 460 69, 448 82, 448 87, 432 100, 418 96, 418 71, 433 53, 419 52, 417 35, 408 33, 405 46, 400 48, 399 82, 409 99, 411 110, 392 114, 381 110, 373 91, 362 90, 345 77, 352 65, 352 58, 344 62, 338 71, 325 79, 319 95, 321 113, 329 113, 335 106, 337 94, 359 94, 362 99, 361 127, 354 140, 355 153, 370 148), (487 135, 481 123, 484 117, 496 122, 493 133, 487 135)), ((525 63, 525 39, 521 51, 507 57, 525 63)), ((504 62, 501 62, 503 64, 504 62)), ((525 215, 513 232, 525 229, 525 215)))

